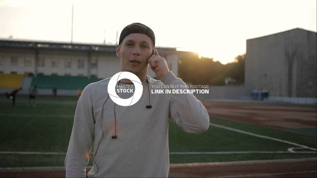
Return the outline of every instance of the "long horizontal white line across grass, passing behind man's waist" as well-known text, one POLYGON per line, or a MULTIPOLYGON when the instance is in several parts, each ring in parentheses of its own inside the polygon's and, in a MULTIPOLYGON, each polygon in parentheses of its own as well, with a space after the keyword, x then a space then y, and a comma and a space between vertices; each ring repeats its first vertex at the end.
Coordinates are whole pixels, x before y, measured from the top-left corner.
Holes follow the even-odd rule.
MULTIPOLYGON (((170 152, 170 155, 199 155, 199 154, 284 154, 284 153, 316 153, 316 151, 215 151, 215 152, 170 152)), ((66 155, 65 152, 34 152, 34 151, 0 151, 0 154, 24 155, 66 155)), ((90 153, 93 154, 93 153, 90 153)))

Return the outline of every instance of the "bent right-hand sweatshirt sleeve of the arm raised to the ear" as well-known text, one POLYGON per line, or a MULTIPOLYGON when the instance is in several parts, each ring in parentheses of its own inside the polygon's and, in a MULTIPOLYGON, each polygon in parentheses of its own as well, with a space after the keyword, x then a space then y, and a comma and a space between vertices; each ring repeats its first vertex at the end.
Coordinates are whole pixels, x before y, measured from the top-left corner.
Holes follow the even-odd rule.
MULTIPOLYGON (((169 71, 161 79, 164 85, 186 84, 169 71)), ((180 89, 180 88, 178 88, 180 89)), ((171 93, 169 117, 188 133, 200 134, 209 128, 209 115, 203 104, 191 93, 171 93)))

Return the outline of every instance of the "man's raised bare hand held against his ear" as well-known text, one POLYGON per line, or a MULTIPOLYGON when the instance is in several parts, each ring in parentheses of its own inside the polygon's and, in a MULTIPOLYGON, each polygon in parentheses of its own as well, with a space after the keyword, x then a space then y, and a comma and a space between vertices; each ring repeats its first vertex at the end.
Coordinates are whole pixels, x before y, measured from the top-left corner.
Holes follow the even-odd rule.
POLYGON ((153 49, 152 56, 148 62, 159 80, 169 71, 166 60, 159 56, 157 49, 153 49))

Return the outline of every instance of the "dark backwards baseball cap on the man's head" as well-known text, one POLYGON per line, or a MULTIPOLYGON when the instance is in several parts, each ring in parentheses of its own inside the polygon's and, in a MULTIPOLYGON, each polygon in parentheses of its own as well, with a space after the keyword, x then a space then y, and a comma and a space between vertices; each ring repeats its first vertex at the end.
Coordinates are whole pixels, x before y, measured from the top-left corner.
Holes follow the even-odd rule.
POLYGON ((150 37, 150 39, 153 42, 153 45, 155 46, 155 35, 152 29, 150 29, 150 27, 142 24, 142 23, 132 23, 126 27, 124 27, 124 29, 122 30, 121 34, 120 34, 120 38, 119 38, 119 45, 121 44, 121 42, 123 41, 123 39, 129 35, 129 34, 133 34, 133 33, 139 33, 139 34, 144 34, 147 35, 148 37, 150 37))

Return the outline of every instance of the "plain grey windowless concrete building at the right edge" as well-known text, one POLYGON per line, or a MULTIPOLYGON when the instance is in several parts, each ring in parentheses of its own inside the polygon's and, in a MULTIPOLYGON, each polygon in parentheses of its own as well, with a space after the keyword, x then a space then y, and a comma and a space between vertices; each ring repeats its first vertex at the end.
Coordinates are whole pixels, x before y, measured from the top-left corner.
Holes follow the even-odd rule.
POLYGON ((297 28, 247 40, 245 86, 269 96, 316 97, 316 35, 297 28))

